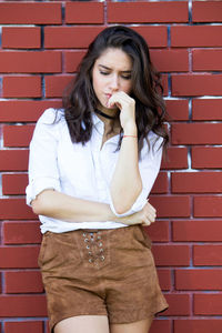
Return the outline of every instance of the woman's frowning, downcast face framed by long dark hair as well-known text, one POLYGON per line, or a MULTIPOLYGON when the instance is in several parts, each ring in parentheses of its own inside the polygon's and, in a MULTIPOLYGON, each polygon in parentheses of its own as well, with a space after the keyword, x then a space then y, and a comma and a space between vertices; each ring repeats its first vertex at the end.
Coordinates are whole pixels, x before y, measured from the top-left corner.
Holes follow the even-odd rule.
POLYGON ((114 92, 123 91, 130 94, 131 74, 132 60, 125 52, 114 48, 104 50, 92 69, 92 85, 100 103, 98 108, 108 110, 107 103, 114 92))

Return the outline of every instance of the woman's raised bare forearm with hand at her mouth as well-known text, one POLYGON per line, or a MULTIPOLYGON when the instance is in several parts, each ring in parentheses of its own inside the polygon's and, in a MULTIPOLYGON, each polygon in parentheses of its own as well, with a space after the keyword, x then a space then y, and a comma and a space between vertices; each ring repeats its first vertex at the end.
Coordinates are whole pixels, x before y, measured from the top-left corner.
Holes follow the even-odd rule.
POLYGON ((110 186, 115 211, 122 214, 132 206, 142 190, 138 161, 135 102, 124 92, 118 92, 110 98, 109 103, 120 107, 120 122, 125 135, 122 139, 110 186))

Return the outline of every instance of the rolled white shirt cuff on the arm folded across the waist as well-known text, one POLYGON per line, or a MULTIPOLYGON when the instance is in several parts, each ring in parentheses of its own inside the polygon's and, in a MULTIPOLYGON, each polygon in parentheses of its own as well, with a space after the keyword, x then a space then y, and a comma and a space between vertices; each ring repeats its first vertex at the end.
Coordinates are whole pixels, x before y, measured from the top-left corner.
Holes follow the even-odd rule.
POLYGON ((56 178, 38 178, 29 183, 26 189, 27 193, 27 204, 31 206, 32 200, 37 198, 39 193, 43 190, 53 189, 56 191, 61 191, 60 182, 56 178))

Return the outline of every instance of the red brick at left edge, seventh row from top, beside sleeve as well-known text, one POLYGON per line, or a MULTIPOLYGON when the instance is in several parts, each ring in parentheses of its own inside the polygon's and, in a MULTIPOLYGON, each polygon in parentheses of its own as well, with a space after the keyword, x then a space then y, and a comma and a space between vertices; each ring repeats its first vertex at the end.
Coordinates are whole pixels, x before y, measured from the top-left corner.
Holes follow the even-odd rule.
POLYGON ((28 150, 0 150, 0 171, 27 171, 28 150))

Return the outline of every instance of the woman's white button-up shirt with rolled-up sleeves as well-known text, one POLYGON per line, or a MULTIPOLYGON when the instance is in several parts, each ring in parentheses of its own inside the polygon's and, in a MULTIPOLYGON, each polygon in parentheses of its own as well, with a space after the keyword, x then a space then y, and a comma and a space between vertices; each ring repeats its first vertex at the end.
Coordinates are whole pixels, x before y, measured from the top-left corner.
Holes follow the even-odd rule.
MULTIPOLYGON (((72 143, 63 110, 48 109, 37 122, 30 143, 29 185, 27 186, 27 204, 43 190, 54 189, 80 199, 110 204, 117 216, 130 215, 140 211, 147 203, 160 170, 162 138, 149 133, 151 148, 147 141, 139 161, 143 189, 131 209, 118 214, 110 195, 110 182, 117 164, 119 151, 115 151, 119 135, 109 139, 101 148, 104 131, 103 122, 93 114, 91 140, 84 145, 72 143), (57 119, 56 119, 56 114, 57 119), (54 122, 56 119, 56 122, 54 122), (155 140, 158 139, 157 143, 155 140)), ((78 229, 115 229, 127 226, 114 221, 65 222, 40 215, 41 232, 67 232, 78 229)))

